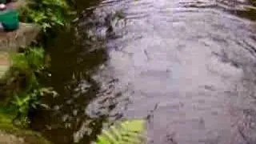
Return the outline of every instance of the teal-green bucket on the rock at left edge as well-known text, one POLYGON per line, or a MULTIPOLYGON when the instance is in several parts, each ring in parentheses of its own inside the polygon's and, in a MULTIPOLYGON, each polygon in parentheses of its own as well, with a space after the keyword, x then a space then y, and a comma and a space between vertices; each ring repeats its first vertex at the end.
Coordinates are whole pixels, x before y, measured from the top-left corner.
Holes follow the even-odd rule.
POLYGON ((0 11, 0 22, 4 30, 17 30, 19 26, 18 11, 17 10, 5 10, 0 11))

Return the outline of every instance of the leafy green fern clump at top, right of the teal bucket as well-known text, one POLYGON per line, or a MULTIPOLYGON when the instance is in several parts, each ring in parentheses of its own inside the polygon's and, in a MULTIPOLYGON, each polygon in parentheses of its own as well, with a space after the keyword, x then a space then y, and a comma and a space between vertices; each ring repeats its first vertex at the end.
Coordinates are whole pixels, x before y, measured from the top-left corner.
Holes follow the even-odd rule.
POLYGON ((65 0, 30 0, 28 6, 20 10, 22 21, 37 23, 44 32, 54 26, 66 26, 69 14, 65 0))

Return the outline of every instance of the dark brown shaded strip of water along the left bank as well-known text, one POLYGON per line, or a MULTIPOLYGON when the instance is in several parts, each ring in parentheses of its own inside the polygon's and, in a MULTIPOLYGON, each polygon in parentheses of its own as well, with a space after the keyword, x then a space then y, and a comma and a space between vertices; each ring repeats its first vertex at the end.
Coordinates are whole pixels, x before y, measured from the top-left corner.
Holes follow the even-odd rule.
POLYGON ((90 143, 106 121, 106 115, 91 118, 86 114, 86 106, 100 90, 92 75, 106 62, 104 40, 92 42, 92 36, 76 27, 62 31, 48 43, 51 76, 43 81, 59 96, 42 98, 50 110, 38 110, 31 116, 30 126, 56 144, 90 143))

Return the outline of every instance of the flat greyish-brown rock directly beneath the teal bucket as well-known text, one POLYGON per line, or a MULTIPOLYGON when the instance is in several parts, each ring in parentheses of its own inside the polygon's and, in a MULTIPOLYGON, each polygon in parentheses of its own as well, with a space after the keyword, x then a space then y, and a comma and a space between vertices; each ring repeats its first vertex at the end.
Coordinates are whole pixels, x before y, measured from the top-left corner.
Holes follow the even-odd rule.
POLYGON ((18 30, 0 32, 0 51, 17 51, 20 47, 29 46, 37 39, 40 31, 40 26, 20 22, 18 30))

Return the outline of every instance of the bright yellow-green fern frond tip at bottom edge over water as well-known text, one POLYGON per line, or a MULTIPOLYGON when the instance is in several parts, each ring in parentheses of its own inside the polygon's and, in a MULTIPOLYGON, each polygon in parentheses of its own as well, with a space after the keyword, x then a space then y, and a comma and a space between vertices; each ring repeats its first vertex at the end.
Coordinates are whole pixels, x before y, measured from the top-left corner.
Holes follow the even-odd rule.
POLYGON ((109 130, 102 130, 94 144, 142 144, 145 130, 144 120, 121 122, 110 126, 109 130))

